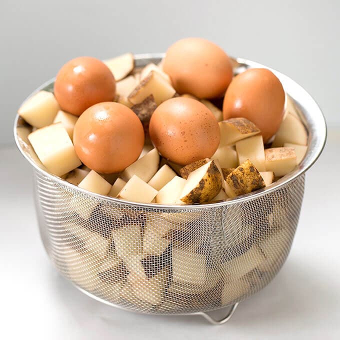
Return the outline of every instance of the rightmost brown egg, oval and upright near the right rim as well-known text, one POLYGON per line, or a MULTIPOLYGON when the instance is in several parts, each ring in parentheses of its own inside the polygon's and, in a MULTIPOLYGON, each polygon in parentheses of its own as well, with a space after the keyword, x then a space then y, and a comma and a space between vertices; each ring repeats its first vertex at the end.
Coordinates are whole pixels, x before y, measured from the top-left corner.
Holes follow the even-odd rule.
POLYGON ((279 79, 266 68, 250 68, 235 76, 226 90, 223 118, 251 120, 267 142, 280 126, 283 109, 284 90, 279 79))

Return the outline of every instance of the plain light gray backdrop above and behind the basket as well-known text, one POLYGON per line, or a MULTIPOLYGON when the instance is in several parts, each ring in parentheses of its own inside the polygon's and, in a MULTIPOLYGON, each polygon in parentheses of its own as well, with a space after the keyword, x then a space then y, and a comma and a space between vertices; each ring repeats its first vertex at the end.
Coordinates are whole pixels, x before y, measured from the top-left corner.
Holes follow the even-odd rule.
POLYGON ((13 142, 20 102, 68 59, 164 51, 186 36, 286 73, 339 125, 339 10, 335 0, 0 0, 0 143, 13 142))

